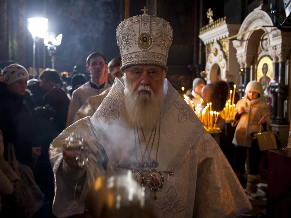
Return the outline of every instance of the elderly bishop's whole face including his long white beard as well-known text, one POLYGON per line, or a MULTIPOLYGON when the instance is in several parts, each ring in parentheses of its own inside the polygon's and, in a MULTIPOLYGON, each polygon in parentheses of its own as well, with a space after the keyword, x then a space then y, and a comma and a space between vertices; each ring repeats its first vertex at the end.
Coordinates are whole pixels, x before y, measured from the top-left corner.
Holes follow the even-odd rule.
POLYGON ((159 123, 164 103, 162 67, 139 65, 125 70, 125 105, 132 127, 151 129, 159 123))

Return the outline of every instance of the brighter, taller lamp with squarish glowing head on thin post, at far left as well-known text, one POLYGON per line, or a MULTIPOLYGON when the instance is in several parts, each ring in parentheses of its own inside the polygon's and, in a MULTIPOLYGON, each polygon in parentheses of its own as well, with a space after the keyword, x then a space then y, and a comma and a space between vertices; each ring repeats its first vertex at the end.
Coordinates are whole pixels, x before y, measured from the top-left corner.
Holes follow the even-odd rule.
POLYGON ((48 29, 48 19, 44 17, 31 17, 27 19, 27 29, 32 34, 33 40, 33 58, 32 58, 32 74, 35 78, 35 43, 39 38, 44 38, 48 29))

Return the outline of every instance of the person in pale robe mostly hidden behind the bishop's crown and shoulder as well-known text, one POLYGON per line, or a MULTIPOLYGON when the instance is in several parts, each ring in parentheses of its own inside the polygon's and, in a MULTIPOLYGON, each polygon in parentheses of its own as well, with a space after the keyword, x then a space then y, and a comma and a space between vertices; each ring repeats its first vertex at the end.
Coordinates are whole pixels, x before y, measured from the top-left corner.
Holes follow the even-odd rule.
MULTIPOLYGON (((121 57, 119 56, 119 57, 113 58, 108 63, 108 66, 107 66, 108 78, 112 83, 114 82, 115 78, 120 74, 120 62, 121 62, 121 57)), ((92 117, 92 115, 100 106, 104 98, 110 92, 111 88, 112 86, 106 89, 105 91, 103 91, 101 94, 88 98, 83 104, 83 106, 81 106, 81 108, 76 113, 73 119, 73 123, 87 116, 92 117)))

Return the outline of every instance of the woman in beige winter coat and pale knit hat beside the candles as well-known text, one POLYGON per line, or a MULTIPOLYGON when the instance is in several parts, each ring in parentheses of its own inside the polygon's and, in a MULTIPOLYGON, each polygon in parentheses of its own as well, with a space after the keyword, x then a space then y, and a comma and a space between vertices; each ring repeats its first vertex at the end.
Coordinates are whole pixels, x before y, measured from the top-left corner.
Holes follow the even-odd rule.
POLYGON ((238 177, 245 172, 245 159, 249 150, 250 170, 247 175, 246 190, 253 197, 258 198, 257 184, 260 180, 259 163, 260 150, 257 140, 252 140, 252 134, 263 131, 263 127, 271 126, 268 104, 261 101, 262 85, 257 81, 249 82, 245 87, 245 96, 238 101, 234 110, 236 130, 232 143, 235 145, 233 170, 238 177))

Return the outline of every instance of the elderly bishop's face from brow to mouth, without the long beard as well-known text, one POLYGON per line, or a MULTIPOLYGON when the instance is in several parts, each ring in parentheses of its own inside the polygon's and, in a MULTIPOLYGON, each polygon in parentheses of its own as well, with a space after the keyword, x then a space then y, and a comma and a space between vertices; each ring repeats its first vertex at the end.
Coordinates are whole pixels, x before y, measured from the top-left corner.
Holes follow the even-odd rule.
POLYGON ((138 91, 139 95, 158 96, 165 78, 165 70, 159 66, 137 65, 125 70, 132 92, 138 91), (151 92, 152 91, 152 92, 151 92))

